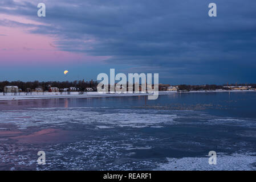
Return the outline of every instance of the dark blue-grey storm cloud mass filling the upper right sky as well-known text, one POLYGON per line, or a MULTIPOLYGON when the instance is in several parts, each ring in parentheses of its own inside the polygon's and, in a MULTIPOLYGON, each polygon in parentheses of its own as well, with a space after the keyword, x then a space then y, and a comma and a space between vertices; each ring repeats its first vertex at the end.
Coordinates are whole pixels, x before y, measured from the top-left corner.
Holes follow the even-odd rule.
POLYGON ((256 81, 256 1, 214 0, 215 18, 208 16, 210 2, 44 1, 46 17, 38 18, 39 1, 3 1, 0 12, 42 21, 46 25, 32 33, 57 36, 55 45, 64 51, 111 56, 107 63, 142 72, 157 67, 172 78, 256 81))

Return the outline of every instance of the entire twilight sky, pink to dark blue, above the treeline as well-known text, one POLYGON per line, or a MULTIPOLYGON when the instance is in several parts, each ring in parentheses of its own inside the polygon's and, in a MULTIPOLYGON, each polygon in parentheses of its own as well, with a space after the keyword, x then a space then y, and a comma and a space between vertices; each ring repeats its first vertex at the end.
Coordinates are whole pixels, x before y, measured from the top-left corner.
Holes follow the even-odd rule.
POLYGON ((115 68, 159 73, 166 84, 255 83, 255 7, 253 0, 1 0, 0 81, 88 81, 115 68), (217 17, 208 15, 212 2, 217 17))

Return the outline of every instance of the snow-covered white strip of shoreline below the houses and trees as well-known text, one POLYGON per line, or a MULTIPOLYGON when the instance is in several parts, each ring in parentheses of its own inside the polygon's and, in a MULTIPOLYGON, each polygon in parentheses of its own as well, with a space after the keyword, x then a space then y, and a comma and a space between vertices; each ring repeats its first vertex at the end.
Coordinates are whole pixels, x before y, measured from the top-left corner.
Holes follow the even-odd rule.
MULTIPOLYGON (((189 92, 176 92, 176 91, 159 91, 159 95, 169 95, 169 94, 183 94, 183 93, 218 93, 218 92, 256 92, 256 90, 192 90, 189 92)), ((5 95, 3 93, 0 95, 0 101, 10 101, 10 100, 40 100, 40 99, 52 99, 52 98, 92 98, 92 97, 133 97, 133 96, 150 96, 151 93, 107 93, 100 94, 97 92, 84 92, 83 94, 78 94, 78 92, 67 93, 55 93, 55 92, 45 92, 36 93, 32 92, 30 95, 22 93, 22 95, 5 95)), ((13 93, 7 93, 13 94, 13 93)), ((20 93, 21 94, 21 93, 20 93)))

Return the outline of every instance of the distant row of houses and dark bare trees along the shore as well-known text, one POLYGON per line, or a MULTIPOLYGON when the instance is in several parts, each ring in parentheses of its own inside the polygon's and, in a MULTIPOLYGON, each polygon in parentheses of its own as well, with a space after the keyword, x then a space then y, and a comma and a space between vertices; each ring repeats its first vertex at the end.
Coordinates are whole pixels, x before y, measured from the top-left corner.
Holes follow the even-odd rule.
MULTIPOLYGON (((31 92, 96 92, 97 81, 2 81, 1 93, 31 92)), ((134 89, 135 84, 133 84, 134 89)), ((153 85, 152 85, 153 87, 153 85)), ((110 86, 109 86, 110 88, 110 86)), ((139 85, 141 91, 141 85, 139 85)), ((192 90, 256 90, 256 84, 225 84, 225 85, 171 85, 159 84, 159 91, 190 92, 192 90)))

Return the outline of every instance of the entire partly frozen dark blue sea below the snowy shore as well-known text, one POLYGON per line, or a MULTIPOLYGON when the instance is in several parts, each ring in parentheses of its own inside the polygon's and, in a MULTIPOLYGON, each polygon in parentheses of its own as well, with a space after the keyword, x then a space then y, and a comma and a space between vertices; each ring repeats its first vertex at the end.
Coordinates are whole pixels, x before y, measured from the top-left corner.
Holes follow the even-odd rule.
POLYGON ((0 101, 0 170, 256 169, 256 92, 147 98, 0 101))

